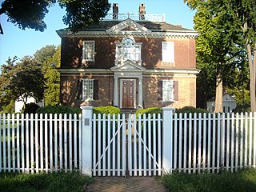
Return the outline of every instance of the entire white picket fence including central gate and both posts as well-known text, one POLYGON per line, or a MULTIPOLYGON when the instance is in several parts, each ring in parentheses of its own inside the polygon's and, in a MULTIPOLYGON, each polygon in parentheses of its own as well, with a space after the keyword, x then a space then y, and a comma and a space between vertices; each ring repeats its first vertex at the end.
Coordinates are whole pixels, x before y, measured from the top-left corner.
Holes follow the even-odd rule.
POLYGON ((0 171, 150 176, 256 167, 256 113, 0 114, 0 171))

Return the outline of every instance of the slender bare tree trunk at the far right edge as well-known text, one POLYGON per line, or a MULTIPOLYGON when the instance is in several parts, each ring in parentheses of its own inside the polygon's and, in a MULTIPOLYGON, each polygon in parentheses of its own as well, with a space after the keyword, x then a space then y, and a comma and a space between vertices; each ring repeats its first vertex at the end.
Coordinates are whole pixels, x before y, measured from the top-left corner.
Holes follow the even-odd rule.
MULTIPOLYGON (((247 54, 248 54, 248 62, 249 62, 249 70, 250 70, 250 110, 252 112, 256 111, 256 103, 255 103, 255 58, 253 61, 251 54, 251 46, 248 42, 246 44, 247 54)), ((254 50, 254 54, 255 54, 254 50)))

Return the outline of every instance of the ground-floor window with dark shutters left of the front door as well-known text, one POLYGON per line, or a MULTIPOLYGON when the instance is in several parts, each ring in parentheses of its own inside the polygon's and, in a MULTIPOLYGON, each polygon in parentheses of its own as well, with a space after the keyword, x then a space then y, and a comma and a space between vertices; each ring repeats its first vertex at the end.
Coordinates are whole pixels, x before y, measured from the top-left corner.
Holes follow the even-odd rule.
POLYGON ((98 100, 98 80, 78 80, 78 100, 98 100))

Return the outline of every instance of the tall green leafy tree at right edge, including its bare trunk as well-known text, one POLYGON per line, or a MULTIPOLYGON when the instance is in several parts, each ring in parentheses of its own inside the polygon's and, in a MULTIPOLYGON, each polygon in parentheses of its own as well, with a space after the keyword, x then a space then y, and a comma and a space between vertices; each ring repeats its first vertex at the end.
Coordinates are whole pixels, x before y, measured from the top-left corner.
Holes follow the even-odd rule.
MULTIPOLYGON (((256 111, 255 103, 255 75, 256 75, 256 1, 250 0, 185 0, 190 8, 200 11, 202 5, 207 6, 211 18, 221 15, 223 22, 222 31, 218 35, 223 35, 227 41, 234 45, 226 46, 226 49, 234 49, 233 53, 243 54, 246 50, 246 59, 250 69, 250 106, 252 111, 256 111), (232 35, 230 35, 232 34, 232 35), (235 37, 235 38, 234 38, 235 37)), ((198 13, 197 11, 197 13, 198 13)), ((211 19, 210 18, 210 19, 211 19)), ((201 25, 203 27, 203 25, 201 25)), ((214 30, 216 27, 214 27, 214 30)), ((200 36, 200 35, 199 35, 200 36)), ((229 45, 229 44, 227 44, 229 45)), ((231 50, 232 50, 231 49, 231 50)), ((222 52, 222 50, 218 50, 222 52)), ((232 54, 227 54, 234 62, 239 62, 232 54)), ((245 62, 241 62, 245 64, 245 62)), ((236 66, 236 64, 234 65, 236 66)), ((239 68, 238 66, 236 66, 239 68)))

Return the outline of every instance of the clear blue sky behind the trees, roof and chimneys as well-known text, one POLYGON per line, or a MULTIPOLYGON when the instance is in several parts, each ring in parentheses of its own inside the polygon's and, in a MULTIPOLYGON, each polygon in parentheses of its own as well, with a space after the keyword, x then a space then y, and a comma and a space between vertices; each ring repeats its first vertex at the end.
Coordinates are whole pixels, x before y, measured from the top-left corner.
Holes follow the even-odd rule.
MULTIPOLYGON (((2 3, 3 0, 0 0, 2 3)), ((166 22, 173 25, 182 25, 192 30, 194 23, 194 11, 190 10, 183 0, 111 0, 112 13, 113 3, 118 3, 119 14, 138 14, 138 6, 145 3, 146 14, 165 14, 166 22)), ((7 58, 23 58, 26 55, 33 56, 37 50, 47 45, 58 46, 61 44, 61 38, 56 30, 66 28, 62 22, 65 10, 57 4, 49 9, 46 14, 45 22, 47 29, 44 32, 35 30, 21 30, 14 24, 7 22, 5 14, 0 15, 0 22, 4 34, 0 34, 0 65, 5 64, 7 58)))

